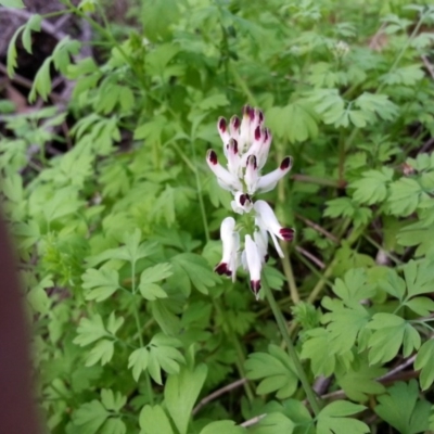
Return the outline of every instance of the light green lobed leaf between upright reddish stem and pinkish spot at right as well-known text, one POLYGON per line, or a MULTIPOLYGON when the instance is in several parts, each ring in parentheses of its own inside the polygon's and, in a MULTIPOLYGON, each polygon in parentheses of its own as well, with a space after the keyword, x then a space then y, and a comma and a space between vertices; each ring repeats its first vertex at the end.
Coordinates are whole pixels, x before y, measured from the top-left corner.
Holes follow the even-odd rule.
POLYGON ((368 170, 361 177, 361 179, 348 186, 348 188, 355 190, 354 200, 368 205, 383 202, 387 196, 387 186, 392 181, 393 169, 383 167, 381 171, 368 170))

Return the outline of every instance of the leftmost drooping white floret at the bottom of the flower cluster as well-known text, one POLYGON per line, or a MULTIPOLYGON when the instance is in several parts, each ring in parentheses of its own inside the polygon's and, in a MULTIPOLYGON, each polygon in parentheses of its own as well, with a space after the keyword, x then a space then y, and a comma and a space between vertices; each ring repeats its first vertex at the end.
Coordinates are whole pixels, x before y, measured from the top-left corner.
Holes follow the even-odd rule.
POLYGON ((222 258, 216 266, 215 271, 219 275, 231 276, 235 281, 238 268, 238 252, 240 250, 240 234, 235 230, 235 220, 232 217, 226 217, 221 221, 220 238, 224 245, 222 258))

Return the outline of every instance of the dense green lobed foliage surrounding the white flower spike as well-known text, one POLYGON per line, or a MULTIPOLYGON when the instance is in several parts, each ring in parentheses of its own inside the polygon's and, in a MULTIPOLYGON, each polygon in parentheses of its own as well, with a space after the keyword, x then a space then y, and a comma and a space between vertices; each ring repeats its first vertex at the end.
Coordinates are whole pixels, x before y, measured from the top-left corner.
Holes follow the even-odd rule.
POLYGON ((433 7, 146 0, 113 22, 107 2, 64 4, 90 22, 93 55, 67 36, 38 58, 58 12, 34 14, 7 68, 35 56, 36 104, 0 99, 48 432, 433 430, 433 7), (264 199, 297 237, 263 276, 324 386, 316 414, 264 298, 213 271, 232 210, 205 153, 222 156, 216 120, 245 103, 275 138, 265 171, 294 157, 264 199))

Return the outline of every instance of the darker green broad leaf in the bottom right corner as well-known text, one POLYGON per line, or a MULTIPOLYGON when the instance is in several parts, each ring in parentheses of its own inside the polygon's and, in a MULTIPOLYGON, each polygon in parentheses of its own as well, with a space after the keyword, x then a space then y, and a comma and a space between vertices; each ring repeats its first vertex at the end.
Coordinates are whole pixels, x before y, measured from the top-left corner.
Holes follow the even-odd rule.
POLYGON ((378 398, 380 404, 374 411, 401 434, 421 433, 429 430, 431 404, 418 398, 416 380, 399 381, 387 390, 386 395, 378 398))

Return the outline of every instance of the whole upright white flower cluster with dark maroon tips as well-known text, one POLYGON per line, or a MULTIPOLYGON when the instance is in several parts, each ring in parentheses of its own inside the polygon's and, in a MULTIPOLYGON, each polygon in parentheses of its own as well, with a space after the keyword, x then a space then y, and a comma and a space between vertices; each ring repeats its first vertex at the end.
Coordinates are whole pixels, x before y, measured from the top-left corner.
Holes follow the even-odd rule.
POLYGON ((265 201, 254 202, 256 193, 272 190, 278 181, 286 175, 292 167, 291 156, 286 156, 280 166, 261 176, 270 150, 271 132, 264 126, 264 114, 258 108, 245 105, 243 117, 232 116, 229 124, 220 117, 217 129, 224 142, 224 152, 228 161, 224 167, 217 154, 209 150, 206 162, 217 177, 221 188, 233 194, 231 206, 234 213, 246 214, 243 228, 237 227, 232 217, 227 217, 221 222, 220 237, 222 242, 222 258, 215 270, 219 275, 227 275, 235 279, 240 265, 248 270, 251 288, 256 298, 260 290, 260 271, 268 259, 268 234, 270 234, 279 256, 283 257, 279 241, 291 241, 294 230, 282 227, 276 218, 275 212, 265 201), (252 224, 250 224, 250 221, 252 224), (240 230, 243 229, 244 248, 241 248, 240 230))

